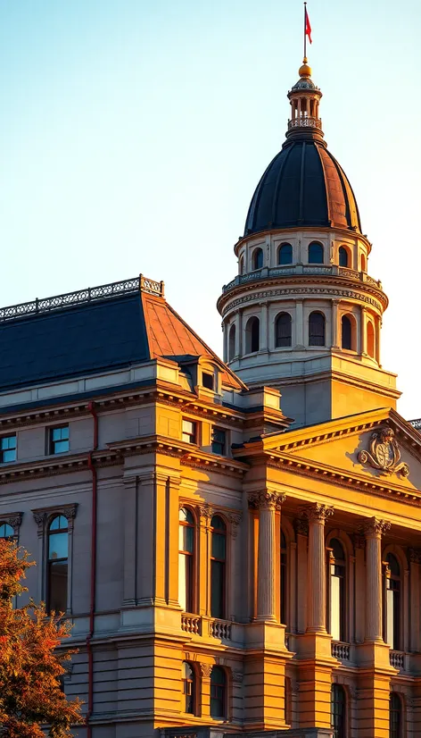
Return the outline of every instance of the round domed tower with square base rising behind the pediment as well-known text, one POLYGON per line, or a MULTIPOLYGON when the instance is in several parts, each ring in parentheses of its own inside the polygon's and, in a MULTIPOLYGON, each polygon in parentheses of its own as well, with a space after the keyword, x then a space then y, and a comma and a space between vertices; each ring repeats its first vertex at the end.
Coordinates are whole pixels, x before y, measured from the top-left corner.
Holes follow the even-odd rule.
POLYGON ((371 244, 327 150, 305 58, 299 75, 285 143, 254 192, 218 309, 230 368, 249 386, 277 387, 285 414, 308 425, 396 407, 400 392, 381 365, 388 299, 367 273, 371 244))

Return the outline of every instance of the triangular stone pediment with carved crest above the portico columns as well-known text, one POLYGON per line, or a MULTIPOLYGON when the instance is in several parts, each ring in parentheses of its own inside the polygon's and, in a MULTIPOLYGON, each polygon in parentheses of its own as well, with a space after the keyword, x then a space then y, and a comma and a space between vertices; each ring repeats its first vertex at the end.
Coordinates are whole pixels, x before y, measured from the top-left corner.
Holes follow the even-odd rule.
POLYGON ((299 473, 421 496, 421 434, 390 408, 285 432, 265 453, 299 473))

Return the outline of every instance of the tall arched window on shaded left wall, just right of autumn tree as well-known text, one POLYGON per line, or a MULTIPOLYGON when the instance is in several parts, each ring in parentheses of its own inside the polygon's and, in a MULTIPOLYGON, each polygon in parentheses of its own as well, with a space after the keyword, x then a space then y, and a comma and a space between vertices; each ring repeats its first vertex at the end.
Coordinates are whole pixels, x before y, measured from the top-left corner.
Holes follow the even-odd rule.
POLYGON ((48 612, 65 612, 67 608, 68 550, 67 518, 58 515, 48 527, 48 612))

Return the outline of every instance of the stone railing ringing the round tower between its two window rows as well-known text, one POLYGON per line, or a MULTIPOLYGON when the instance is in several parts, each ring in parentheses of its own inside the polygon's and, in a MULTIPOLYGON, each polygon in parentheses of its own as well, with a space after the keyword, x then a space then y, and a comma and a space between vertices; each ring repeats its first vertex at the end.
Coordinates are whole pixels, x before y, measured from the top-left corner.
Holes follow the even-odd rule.
POLYGON ((264 266, 261 269, 256 269, 254 272, 238 274, 234 280, 224 284, 222 292, 228 292, 234 287, 239 287, 242 284, 248 284, 253 281, 308 274, 320 277, 343 277, 352 281, 365 282, 376 287, 376 289, 382 289, 381 281, 376 281, 365 272, 357 272, 355 269, 349 269, 345 266, 337 266, 337 264, 291 264, 287 266, 264 266))

